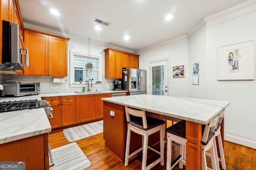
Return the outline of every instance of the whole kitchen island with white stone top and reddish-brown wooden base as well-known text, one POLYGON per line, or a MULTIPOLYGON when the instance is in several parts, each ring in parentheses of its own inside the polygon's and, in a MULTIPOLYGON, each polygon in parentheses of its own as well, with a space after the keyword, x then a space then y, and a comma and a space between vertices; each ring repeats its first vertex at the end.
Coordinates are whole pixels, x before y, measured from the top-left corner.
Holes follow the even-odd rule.
MULTIPOLYGON (((103 102, 103 137, 105 146, 121 162, 124 162, 126 143, 126 116, 124 106, 142 109, 148 116, 158 119, 186 120, 186 169, 201 170, 202 124, 207 124, 230 104, 228 101, 181 98, 140 94, 116 98, 102 98, 103 102), (110 115, 110 111, 114 111, 110 115)), ((131 137, 132 138, 132 137, 131 137)), ((133 148, 138 146, 133 143, 133 148)), ((134 142, 134 141, 133 141, 134 142)))

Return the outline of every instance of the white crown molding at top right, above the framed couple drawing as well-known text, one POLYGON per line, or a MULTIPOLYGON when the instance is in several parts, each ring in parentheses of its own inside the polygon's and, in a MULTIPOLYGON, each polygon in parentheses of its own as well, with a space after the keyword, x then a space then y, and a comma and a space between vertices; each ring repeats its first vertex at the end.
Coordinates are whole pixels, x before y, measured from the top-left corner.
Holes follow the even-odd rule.
POLYGON ((217 12, 204 18, 206 27, 222 23, 224 21, 232 20, 240 16, 250 14, 256 11, 256 0, 248 0, 236 6, 232 6, 221 12, 217 12))

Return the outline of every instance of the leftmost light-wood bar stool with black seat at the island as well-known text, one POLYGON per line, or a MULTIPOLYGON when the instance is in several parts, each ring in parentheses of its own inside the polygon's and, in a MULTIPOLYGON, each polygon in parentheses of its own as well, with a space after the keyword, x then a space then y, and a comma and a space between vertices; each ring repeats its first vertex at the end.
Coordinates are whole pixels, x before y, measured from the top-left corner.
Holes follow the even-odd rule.
POLYGON ((142 170, 149 170, 156 164, 164 165, 164 124, 165 121, 160 119, 155 119, 153 117, 147 117, 144 110, 132 109, 125 106, 126 120, 127 120, 127 138, 126 138, 126 151, 124 165, 128 166, 128 160, 141 150, 142 152, 142 170), (132 116, 130 116, 132 115, 132 116), (130 137, 131 131, 142 135, 142 147, 129 153, 130 150, 130 137), (160 131, 160 151, 148 146, 148 136, 160 131), (148 149, 160 154, 160 158, 155 160, 150 165, 146 166, 147 152, 148 149))

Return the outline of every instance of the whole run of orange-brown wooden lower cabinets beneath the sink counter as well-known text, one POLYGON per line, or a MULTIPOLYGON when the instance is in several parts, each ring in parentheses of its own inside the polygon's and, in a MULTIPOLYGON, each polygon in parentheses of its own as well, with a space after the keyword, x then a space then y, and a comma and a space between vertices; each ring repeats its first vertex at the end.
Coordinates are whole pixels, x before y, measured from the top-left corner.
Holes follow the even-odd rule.
MULTIPOLYGON (((127 95, 127 94, 126 94, 127 95)), ((85 94, 77 96, 45 97, 53 108, 52 129, 93 121, 103 118, 102 98, 110 98, 110 93, 85 94)))

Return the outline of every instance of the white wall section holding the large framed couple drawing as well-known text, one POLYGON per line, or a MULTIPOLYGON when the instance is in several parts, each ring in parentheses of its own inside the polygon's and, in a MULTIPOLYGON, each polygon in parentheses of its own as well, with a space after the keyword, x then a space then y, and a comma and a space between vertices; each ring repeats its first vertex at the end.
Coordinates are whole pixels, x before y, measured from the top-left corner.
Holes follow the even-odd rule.
MULTIPOLYGON (((225 111, 225 139, 256 148, 256 80, 217 80, 217 48, 254 40, 256 12, 207 28, 207 98, 228 100, 225 111)), ((255 59, 254 59, 255 64, 255 59)), ((255 70, 253 70, 255 72, 255 70)))

